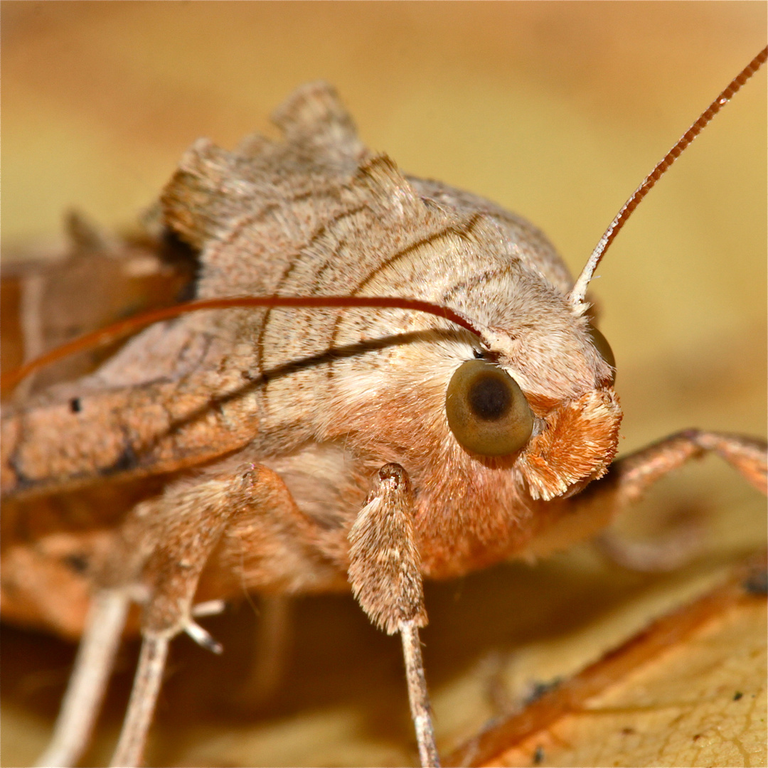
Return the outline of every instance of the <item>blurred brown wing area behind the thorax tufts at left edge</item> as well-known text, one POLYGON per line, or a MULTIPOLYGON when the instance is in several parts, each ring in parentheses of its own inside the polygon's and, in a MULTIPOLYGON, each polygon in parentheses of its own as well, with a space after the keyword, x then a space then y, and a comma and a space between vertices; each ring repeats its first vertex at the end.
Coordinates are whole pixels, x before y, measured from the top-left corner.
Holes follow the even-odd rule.
MULTIPOLYGON (((69 214, 66 228, 65 243, 3 254, 3 372, 118 319, 170 306, 192 279, 189 249, 164 240, 159 231, 118 236, 98 230, 80 214, 69 214)), ((83 376, 119 346, 68 356, 28 377, 15 396, 83 376)))

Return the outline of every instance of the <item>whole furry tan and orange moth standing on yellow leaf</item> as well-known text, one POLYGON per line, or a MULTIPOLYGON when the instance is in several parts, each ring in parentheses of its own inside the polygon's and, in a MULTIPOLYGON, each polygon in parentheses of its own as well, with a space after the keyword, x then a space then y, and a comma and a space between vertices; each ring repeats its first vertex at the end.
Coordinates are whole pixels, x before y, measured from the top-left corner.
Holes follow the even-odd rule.
MULTIPOLYGON (((195 620, 210 601, 351 588, 402 637, 420 760, 438 765, 422 578, 593 538, 703 452, 765 491, 766 445, 740 435, 688 430, 614 462, 614 360, 586 290, 626 210, 574 281, 525 220, 372 154, 327 84, 274 121, 282 141, 197 141, 161 194, 151 251, 184 254, 197 303, 3 412, 5 498, 155 483, 121 520, 42 546, 92 589, 42 764, 88 743, 131 604, 143 644, 115 765, 141 763, 170 641, 216 650, 195 620)), ((6 589, 28 589, 24 546, 6 589)))

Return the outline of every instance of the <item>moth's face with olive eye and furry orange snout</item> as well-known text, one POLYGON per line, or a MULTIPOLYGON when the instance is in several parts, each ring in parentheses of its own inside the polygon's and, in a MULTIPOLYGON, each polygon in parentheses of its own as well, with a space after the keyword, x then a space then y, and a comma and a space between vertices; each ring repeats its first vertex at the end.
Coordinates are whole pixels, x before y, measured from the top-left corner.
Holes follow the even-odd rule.
MULTIPOLYGON (((586 319, 574 325, 568 358, 560 362, 573 369, 574 379, 592 376, 591 386, 563 390, 551 380, 536 381, 537 366, 519 365, 525 341, 507 335, 501 343, 497 330, 491 332, 495 351, 477 350, 460 363, 445 391, 455 442, 478 462, 517 472, 532 498, 566 495, 601 477, 617 449, 621 408, 611 347, 586 319), (583 349, 576 354, 579 342, 583 349)), ((556 353, 548 364, 555 358, 556 353)))

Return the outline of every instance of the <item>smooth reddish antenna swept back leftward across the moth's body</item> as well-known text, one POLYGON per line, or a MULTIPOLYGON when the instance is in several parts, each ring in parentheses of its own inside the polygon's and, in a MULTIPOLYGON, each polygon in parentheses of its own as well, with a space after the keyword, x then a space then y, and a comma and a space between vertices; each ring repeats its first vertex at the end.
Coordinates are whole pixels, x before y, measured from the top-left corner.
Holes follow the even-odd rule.
POLYGON ((56 347, 56 349, 51 349, 45 355, 25 362, 23 366, 4 373, 0 376, 0 388, 3 390, 11 389, 18 382, 21 382, 22 379, 29 376, 30 373, 50 365, 51 362, 77 352, 83 352, 85 349, 93 349, 94 347, 110 344, 121 339, 123 336, 129 336, 131 333, 136 333, 145 326, 158 323, 161 320, 186 315, 190 312, 199 312, 200 310, 228 310, 233 307, 254 306, 297 306, 309 309, 340 306, 416 310, 417 312, 425 312, 429 315, 450 320, 457 326, 468 330, 470 333, 474 333, 475 336, 481 335, 479 329, 472 325, 469 319, 455 312, 455 310, 419 299, 399 299, 393 296, 233 296, 227 299, 203 299, 200 301, 190 301, 186 304, 166 306, 159 310, 150 310, 134 317, 118 320, 117 323, 112 323, 93 333, 86 333, 84 336, 78 337, 78 339, 62 344, 56 347))

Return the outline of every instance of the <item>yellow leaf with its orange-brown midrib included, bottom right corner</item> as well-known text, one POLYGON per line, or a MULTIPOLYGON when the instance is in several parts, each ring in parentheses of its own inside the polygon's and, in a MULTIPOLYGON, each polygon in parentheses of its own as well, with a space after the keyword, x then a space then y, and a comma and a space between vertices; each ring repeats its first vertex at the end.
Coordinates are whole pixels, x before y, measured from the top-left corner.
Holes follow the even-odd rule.
POLYGON ((766 762, 765 561, 735 568, 519 713, 448 765, 744 765, 766 762))

